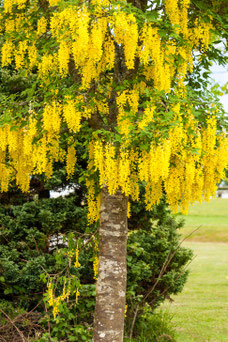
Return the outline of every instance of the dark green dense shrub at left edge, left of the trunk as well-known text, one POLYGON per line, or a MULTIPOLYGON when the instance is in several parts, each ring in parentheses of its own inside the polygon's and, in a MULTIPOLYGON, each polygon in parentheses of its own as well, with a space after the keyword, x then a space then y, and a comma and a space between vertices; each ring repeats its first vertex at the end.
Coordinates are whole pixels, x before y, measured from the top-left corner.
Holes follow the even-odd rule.
POLYGON ((43 292, 43 270, 60 270, 49 239, 70 230, 86 230, 86 207, 79 207, 77 201, 77 196, 59 197, 0 208, 0 291, 11 300, 20 295, 24 305, 30 306, 30 300, 36 301, 43 292))

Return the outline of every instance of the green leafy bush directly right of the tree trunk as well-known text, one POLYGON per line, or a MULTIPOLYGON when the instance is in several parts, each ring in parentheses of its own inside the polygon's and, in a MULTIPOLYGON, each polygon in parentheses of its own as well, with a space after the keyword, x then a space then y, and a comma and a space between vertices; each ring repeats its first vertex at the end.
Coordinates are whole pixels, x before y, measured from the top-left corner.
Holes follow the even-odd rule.
POLYGON ((143 205, 136 207, 132 208, 132 222, 136 224, 138 218, 139 226, 135 227, 139 229, 131 231, 128 238, 127 332, 135 312, 140 318, 145 305, 154 310, 182 291, 188 275, 186 265, 192 259, 191 250, 180 246, 183 221, 178 222, 164 200, 152 212, 145 211, 143 205))

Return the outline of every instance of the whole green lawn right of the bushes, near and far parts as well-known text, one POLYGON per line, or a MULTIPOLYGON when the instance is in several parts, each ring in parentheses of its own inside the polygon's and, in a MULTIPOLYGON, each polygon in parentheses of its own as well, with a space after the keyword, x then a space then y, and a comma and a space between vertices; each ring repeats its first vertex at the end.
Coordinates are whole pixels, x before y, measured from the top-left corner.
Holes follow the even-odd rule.
POLYGON ((164 307, 173 315, 177 342, 228 342, 228 199, 192 206, 183 235, 199 225, 184 242, 195 254, 188 282, 164 307))

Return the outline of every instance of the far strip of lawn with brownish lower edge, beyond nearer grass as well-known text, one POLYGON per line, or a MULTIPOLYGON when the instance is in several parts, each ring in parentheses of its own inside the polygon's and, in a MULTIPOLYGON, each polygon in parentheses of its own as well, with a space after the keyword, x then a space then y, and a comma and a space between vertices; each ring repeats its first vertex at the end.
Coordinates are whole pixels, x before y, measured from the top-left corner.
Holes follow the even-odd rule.
POLYGON ((187 236, 200 226, 188 241, 228 242, 228 199, 216 198, 202 204, 195 203, 190 206, 187 216, 178 216, 185 220, 185 227, 180 232, 182 236, 187 236))

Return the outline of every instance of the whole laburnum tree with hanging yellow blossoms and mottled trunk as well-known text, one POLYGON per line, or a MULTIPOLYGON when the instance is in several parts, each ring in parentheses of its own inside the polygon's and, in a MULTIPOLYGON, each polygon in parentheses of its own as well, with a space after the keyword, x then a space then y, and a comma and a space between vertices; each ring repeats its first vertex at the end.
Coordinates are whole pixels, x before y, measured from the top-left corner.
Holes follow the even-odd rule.
POLYGON ((127 217, 139 185, 148 210, 165 192, 187 213, 223 177, 222 114, 191 79, 218 39, 218 3, 206 11, 189 0, 2 2, 2 68, 31 88, 1 103, 1 191, 16 180, 26 192, 31 175, 50 178, 64 160, 70 178, 84 145, 88 218, 99 220, 96 342, 123 340, 127 217))

